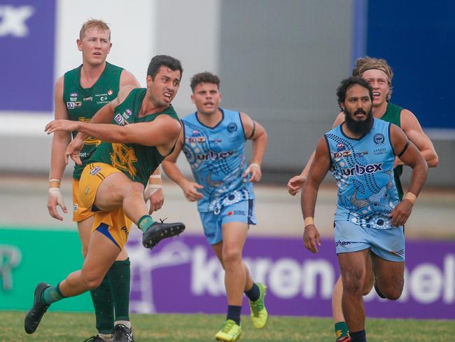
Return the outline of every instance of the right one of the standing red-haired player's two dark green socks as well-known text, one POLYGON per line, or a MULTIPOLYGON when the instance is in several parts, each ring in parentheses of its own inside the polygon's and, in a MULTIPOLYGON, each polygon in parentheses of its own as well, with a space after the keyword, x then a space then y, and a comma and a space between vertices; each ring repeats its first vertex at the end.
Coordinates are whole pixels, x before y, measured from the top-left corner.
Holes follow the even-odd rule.
POLYGON ((115 261, 108 271, 116 321, 130 320, 130 258, 115 261))

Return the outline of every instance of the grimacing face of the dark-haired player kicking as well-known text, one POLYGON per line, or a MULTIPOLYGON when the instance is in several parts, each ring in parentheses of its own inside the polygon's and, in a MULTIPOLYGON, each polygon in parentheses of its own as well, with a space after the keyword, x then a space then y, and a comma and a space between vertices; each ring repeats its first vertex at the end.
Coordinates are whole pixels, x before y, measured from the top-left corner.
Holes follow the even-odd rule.
POLYGON ((164 65, 158 69, 154 80, 151 76, 147 76, 147 88, 157 107, 167 107, 171 104, 179 90, 180 78, 180 70, 172 70, 164 65))

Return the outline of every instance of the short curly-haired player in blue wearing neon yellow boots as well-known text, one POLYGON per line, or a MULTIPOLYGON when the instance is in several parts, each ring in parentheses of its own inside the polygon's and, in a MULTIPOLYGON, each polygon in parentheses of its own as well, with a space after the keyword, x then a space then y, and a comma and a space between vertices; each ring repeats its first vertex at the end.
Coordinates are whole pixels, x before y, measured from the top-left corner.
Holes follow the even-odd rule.
POLYGON ((253 282, 241 258, 248 226, 256 224, 253 183, 261 178, 267 133, 248 115, 219 107, 219 86, 218 76, 209 72, 193 76, 191 100, 197 111, 182 119, 183 131, 176 148, 162 167, 188 200, 197 200, 204 234, 225 269, 228 315, 215 338, 237 341, 243 293, 250 300, 254 326, 260 329, 267 322, 266 287, 253 282), (253 141, 249 165, 244 153, 247 139, 253 141), (182 149, 195 182, 186 179, 176 166, 182 149))

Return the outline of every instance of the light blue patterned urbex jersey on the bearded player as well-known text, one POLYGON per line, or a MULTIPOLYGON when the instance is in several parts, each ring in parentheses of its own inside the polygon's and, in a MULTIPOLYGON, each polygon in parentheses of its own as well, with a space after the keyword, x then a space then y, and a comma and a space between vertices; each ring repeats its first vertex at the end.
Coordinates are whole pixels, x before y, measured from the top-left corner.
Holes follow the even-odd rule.
POLYGON ((342 125, 325 133, 338 186, 335 221, 351 221, 363 228, 394 228, 388 215, 399 199, 393 180, 391 124, 375 118, 370 133, 360 139, 346 137, 342 125))

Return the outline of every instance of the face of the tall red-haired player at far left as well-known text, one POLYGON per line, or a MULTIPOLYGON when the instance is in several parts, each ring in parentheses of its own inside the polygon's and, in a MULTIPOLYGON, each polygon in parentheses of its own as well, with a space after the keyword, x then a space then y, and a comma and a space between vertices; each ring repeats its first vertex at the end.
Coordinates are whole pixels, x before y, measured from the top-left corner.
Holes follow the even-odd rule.
POLYGON ((82 51, 83 62, 92 65, 104 63, 112 46, 109 32, 97 28, 89 29, 77 43, 79 51, 82 51))

